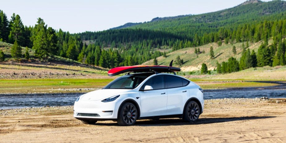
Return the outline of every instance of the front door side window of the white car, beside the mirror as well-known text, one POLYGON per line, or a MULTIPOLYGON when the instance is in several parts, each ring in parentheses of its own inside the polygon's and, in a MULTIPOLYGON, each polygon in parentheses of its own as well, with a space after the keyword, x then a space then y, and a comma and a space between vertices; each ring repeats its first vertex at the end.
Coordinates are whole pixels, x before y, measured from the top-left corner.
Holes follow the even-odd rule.
POLYGON ((154 89, 164 89, 164 76, 154 76, 150 78, 142 87, 143 90, 146 85, 152 86, 154 89))

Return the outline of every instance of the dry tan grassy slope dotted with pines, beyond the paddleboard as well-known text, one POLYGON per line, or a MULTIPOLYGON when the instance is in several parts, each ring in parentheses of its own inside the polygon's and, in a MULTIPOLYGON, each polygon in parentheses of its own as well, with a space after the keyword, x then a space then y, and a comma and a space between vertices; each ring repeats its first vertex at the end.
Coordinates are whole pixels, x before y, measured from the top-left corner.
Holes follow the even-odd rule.
MULTIPOLYGON (((257 43, 252 43, 249 45, 250 51, 254 50, 257 52, 259 46, 261 45, 262 41, 257 43)), ((244 43, 245 45, 246 43, 244 43)), ((195 48, 184 48, 180 50, 173 51, 171 53, 167 54, 167 57, 160 56, 157 58, 159 65, 169 65, 171 60, 174 60, 174 66, 181 67, 182 71, 196 71, 200 70, 202 63, 206 63, 209 70, 213 70, 216 68, 216 62, 225 62, 228 58, 234 57, 237 60, 241 57, 242 52, 242 42, 235 43, 233 45, 231 44, 223 44, 222 46, 218 46, 217 43, 210 43, 203 46, 198 46, 197 48, 200 49, 200 51, 205 51, 205 53, 201 53, 197 55, 195 54, 195 48), (213 47, 215 58, 210 58, 210 47, 213 47), (233 54, 232 48, 233 46, 236 47, 237 54, 233 54), (183 59, 184 64, 179 66, 176 65, 176 58, 177 56, 180 56, 181 59, 183 59)), ((153 59, 149 60, 143 64, 146 65, 152 65, 153 59)))

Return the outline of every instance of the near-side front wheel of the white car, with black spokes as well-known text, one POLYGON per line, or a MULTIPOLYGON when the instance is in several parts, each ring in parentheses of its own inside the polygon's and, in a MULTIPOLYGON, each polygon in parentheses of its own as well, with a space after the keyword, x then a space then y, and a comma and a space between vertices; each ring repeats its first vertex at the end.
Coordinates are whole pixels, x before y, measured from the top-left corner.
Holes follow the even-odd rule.
POLYGON ((136 106, 130 102, 123 103, 120 107, 117 117, 117 124, 121 126, 130 126, 135 124, 138 118, 136 106))

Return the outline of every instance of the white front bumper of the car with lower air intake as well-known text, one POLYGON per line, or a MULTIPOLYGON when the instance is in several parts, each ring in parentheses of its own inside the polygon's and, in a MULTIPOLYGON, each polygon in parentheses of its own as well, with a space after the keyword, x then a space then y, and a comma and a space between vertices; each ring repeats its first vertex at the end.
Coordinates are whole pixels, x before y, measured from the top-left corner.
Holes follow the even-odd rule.
POLYGON ((80 120, 117 119, 119 106, 119 100, 112 102, 79 100, 78 102, 75 102, 74 105, 74 117, 80 120))

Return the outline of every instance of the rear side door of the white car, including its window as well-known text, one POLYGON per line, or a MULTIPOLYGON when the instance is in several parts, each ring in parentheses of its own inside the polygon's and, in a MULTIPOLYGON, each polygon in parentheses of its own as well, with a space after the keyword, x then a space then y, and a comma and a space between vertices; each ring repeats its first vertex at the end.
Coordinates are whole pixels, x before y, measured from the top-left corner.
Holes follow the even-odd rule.
POLYGON ((188 80, 177 76, 165 75, 165 88, 168 93, 167 115, 182 114, 186 101, 190 98, 188 80))

